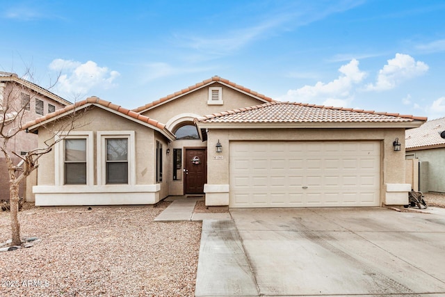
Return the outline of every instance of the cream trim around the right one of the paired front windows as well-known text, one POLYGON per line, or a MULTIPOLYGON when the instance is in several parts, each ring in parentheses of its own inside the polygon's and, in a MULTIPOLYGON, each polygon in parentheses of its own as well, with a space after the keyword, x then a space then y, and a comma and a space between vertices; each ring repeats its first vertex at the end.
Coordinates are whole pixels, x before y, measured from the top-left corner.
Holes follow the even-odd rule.
MULTIPOLYGON (((122 186, 106 184, 106 139, 128 139, 128 185, 136 184, 135 131, 97 131, 97 184, 102 186, 122 186)), ((127 185, 127 184, 125 184, 127 185)))

